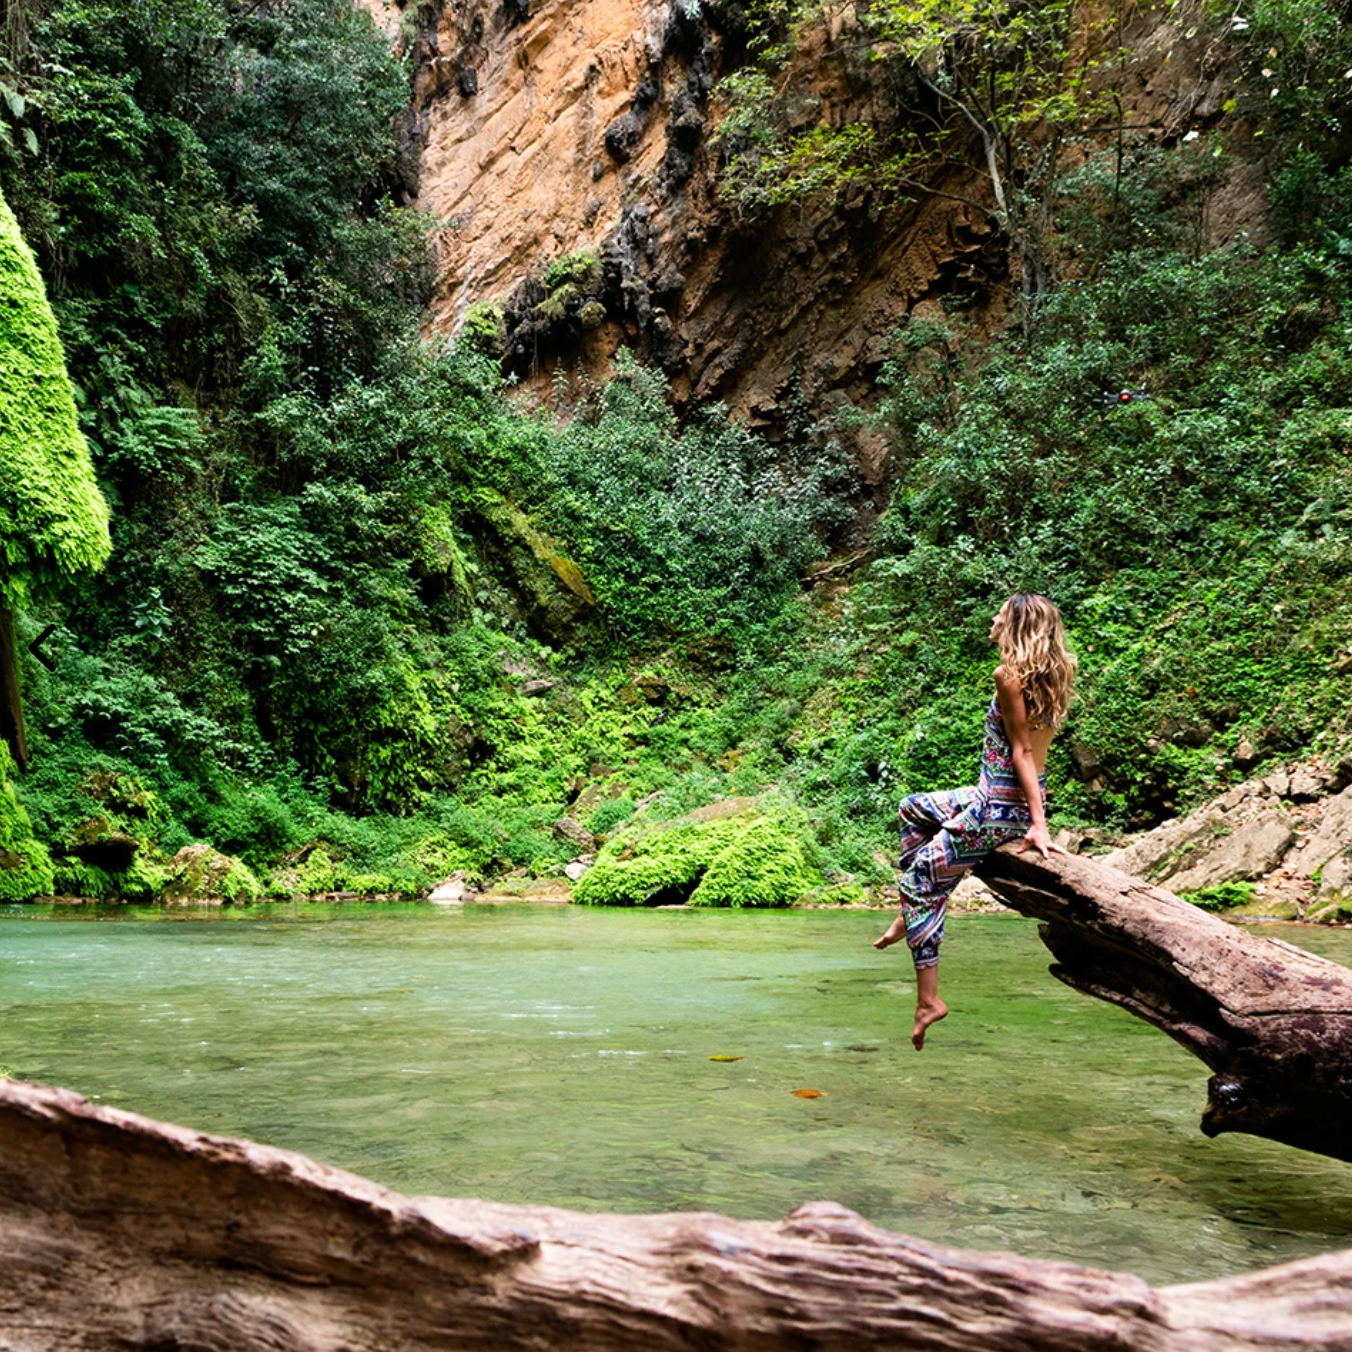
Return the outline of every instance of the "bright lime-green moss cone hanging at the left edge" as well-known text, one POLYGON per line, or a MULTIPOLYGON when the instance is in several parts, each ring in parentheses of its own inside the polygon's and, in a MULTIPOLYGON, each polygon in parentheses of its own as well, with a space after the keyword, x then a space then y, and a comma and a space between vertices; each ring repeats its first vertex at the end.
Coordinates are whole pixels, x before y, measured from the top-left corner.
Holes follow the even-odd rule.
POLYGON ((57 323, 0 196, 0 602, 101 568, 110 549, 57 323))

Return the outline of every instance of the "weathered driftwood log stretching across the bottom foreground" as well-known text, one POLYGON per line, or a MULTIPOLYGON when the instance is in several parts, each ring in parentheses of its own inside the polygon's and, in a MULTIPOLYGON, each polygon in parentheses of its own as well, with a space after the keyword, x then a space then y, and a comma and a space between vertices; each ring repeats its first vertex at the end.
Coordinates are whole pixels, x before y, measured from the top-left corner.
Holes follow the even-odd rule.
POLYGON ((1153 1290, 786 1221, 404 1198, 303 1155, 0 1083, 5 1352, 1352 1349, 1352 1252, 1153 1290))

